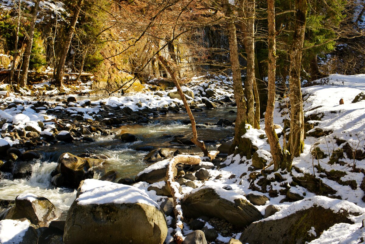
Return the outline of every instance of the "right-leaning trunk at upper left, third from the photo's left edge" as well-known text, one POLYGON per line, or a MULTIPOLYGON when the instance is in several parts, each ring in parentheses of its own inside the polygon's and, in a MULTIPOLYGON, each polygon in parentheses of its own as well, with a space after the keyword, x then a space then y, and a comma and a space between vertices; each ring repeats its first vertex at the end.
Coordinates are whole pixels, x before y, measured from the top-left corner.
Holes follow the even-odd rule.
POLYGON ((82 5, 82 0, 78 0, 77 5, 75 6, 75 9, 74 9, 73 17, 72 17, 72 20, 70 23, 70 27, 69 27, 64 45, 61 49, 61 54, 59 55, 56 75, 54 77, 54 85, 56 87, 58 87, 60 90, 62 90, 62 86, 63 86, 66 57, 67 57, 67 53, 70 48, 73 34, 75 32, 75 26, 76 26, 76 22, 78 19, 78 15, 80 14, 81 5, 82 5))

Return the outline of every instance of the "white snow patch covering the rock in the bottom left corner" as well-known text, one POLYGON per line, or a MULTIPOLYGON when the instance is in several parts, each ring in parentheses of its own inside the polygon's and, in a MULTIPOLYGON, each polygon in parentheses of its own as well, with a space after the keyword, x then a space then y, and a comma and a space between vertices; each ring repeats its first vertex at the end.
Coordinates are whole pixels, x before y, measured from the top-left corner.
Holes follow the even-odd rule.
POLYGON ((29 221, 1 220, 0 221, 0 243, 18 244, 30 226, 29 221))

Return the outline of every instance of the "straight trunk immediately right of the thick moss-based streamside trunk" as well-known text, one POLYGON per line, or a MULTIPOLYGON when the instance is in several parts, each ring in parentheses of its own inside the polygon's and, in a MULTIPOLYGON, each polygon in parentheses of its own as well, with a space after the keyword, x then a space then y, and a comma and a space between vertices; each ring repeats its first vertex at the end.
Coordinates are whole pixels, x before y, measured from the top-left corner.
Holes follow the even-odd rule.
MULTIPOLYGON (((239 0, 239 17, 242 23, 243 45, 247 54, 247 76, 245 79, 245 95, 247 99, 247 123, 260 129, 259 121, 255 121, 253 89, 255 83, 255 0, 239 0)), ((258 100, 258 99, 257 99, 258 100)), ((260 102, 256 104, 256 109, 260 114, 260 102)))

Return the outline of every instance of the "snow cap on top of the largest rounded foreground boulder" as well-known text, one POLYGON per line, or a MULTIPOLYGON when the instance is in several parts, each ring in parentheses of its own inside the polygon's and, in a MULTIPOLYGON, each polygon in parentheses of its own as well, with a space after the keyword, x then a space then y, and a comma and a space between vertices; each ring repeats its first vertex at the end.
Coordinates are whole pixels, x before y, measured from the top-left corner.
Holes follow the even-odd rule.
POLYGON ((145 192, 134 186, 104 180, 86 179, 80 191, 81 194, 76 199, 79 205, 141 203, 160 209, 160 206, 145 192))

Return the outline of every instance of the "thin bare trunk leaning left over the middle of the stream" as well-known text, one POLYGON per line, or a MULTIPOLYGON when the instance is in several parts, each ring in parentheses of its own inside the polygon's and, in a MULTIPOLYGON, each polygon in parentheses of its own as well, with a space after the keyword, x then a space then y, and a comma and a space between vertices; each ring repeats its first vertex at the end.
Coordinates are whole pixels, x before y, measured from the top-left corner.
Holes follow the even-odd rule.
POLYGON ((184 103, 184 107, 189 115, 189 119, 190 119, 190 122, 191 122, 191 128, 192 128, 192 132, 193 132, 193 136, 191 138, 191 141, 199 146, 199 148, 203 151, 204 153, 204 156, 205 157, 208 157, 208 150, 207 148, 205 148, 205 144, 204 144, 204 141, 199 141, 198 140, 198 133, 196 131, 196 123, 195 123, 195 119, 194 119, 194 116, 193 114, 191 113, 191 109, 189 107, 189 104, 185 98, 185 95, 183 93, 183 90, 181 89, 180 87, 180 84, 179 84, 179 81, 177 80, 176 78, 176 74, 175 74, 175 71, 171 69, 170 65, 168 64, 168 62, 165 60, 164 57, 162 57, 161 55, 158 55, 158 60, 160 60, 160 62, 165 66, 167 72, 169 72, 174 84, 176 85, 176 88, 177 88, 177 92, 178 94, 180 95, 180 98, 181 100, 183 100, 183 103, 184 103))

